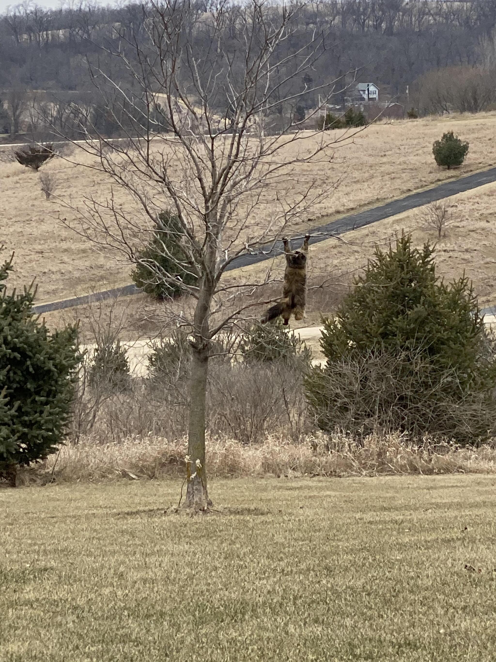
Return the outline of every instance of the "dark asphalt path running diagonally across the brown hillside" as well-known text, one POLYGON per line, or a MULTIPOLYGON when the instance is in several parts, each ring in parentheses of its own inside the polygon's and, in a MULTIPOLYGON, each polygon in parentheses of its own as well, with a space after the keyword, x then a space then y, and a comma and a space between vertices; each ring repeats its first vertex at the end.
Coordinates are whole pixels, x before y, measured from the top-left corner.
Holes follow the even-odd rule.
MULTIPOLYGON (((410 209, 422 207, 423 205, 442 200, 443 198, 456 195, 457 193, 476 189, 479 186, 489 184, 493 181, 496 181, 496 167, 476 172, 472 175, 467 175, 466 177, 458 177, 458 179, 446 181, 430 189, 425 189, 425 191, 411 193, 411 195, 407 195, 403 198, 392 200, 385 205, 366 209, 356 214, 347 214, 347 216, 342 216, 341 218, 337 218, 337 220, 333 220, 309 230, 308 234, 311 235, 310 244, 317 244, 318 242, 329 239, 329 237, 337 236, 345 232, 351 232, 351 230, 358 230, 358 228, 363 228, 366 225, 376 223, 378 220, 384 220, 384 218, 396 216, 396 214, 401 214, 410 209)), ((249 267, 252 264, 271 260, 280 255, 283 250, 282 242, 275 242, 274 244, 270 244, 270 246, 267 247, 267 250, 237 256, 235 260, 227 265, 226 271, 232 271, 233 269, 239 269, 241 267, 249 267)), ((141 289, 136 287, 136 285, 125 285, 124 287, 95 292, 83 297, 73 297, 73 299, 63 299, 62 301, 52 301, 51 303, 40 304, 34 307, 34 312, 52 312, 52 310, 73 308, 75 306, 104 301, 106 299, 116 299, 116 297, 128 297, 130 295, 140 294, 140 292, 141 289)), ((492 308, 486 308, 485 310, 489 312, 492 308)))

